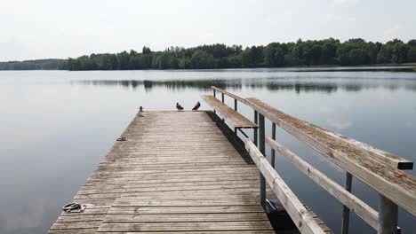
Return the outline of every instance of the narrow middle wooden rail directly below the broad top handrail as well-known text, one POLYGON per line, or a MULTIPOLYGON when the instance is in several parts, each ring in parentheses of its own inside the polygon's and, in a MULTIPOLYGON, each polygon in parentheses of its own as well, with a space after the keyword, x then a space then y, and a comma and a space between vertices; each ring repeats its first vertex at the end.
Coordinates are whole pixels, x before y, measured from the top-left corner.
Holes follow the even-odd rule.
POLYGON ((277 143, 270 137, 266 137, 266 143, 270 145, 272 149, 280 152, 284 158, 289 160, 305 175, 308 175, 311 180, 321 186, 325 191, 328 191, 335 199, 338 199, 342 204, 354 211, 354 213, 372 226, 373 229, 377 230, 378 214, 372 207, 368 206, 364 201, 345 190, 340 184, 335 183, 322 172, 312 167, 308 162, 300 159, 298 155, 285 148, 282 144, 277 143))

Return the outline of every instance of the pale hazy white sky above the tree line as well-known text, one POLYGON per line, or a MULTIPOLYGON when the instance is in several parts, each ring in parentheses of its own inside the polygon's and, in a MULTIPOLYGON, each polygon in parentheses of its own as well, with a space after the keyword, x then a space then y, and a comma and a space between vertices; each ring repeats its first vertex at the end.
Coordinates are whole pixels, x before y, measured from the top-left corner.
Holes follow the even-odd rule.
POLYGON ((415 0, 0 0, 0 60, 171 45, 416 38, 415 0))

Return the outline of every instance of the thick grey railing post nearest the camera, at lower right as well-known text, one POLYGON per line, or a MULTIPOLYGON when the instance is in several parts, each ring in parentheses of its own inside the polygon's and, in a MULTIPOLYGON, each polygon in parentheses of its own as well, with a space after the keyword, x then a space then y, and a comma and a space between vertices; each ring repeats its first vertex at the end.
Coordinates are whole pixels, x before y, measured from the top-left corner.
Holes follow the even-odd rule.
POLYGON ((378 234, 397 234, 398 207, 380 194, 378 234))

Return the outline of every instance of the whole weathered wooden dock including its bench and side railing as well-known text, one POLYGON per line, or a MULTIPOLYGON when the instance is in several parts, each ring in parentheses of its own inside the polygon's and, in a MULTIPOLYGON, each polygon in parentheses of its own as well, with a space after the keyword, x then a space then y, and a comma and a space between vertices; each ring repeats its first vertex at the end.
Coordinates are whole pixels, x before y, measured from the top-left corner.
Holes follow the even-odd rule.
POLYGON ((342 234, 350 212, 378 234, 400 233, 398 207, 416 215, 416 178, 404 172, 412 161, 257 98, 212 90, 201 98, 213 112, 139 112, 76 193, 73 202, 86 205, 84 212, 60 214, 50 233, 333 233, 278 174, 276 152, 340 201, 342 234), (234 98, 234 109, 225 96, 234 98), (252 108, 254 122, 237 112, 238 103, 252 108), (345 187, 277 142, 276 127, 345 170, 345 187), (253 130, 252 139, 244 130, 253 130), (353 178, 380 194, 378 211, 351 192, 353 178))

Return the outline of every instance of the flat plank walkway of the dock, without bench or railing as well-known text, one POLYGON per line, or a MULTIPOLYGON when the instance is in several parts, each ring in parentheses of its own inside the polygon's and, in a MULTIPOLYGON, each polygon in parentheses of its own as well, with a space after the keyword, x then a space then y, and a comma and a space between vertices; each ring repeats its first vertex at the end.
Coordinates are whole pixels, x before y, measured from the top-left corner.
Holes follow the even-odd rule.
POLYGON ((50 233, 274 233, 259 170, 210 112, 138 113, 50 233))

